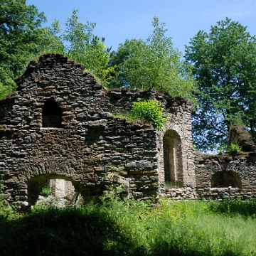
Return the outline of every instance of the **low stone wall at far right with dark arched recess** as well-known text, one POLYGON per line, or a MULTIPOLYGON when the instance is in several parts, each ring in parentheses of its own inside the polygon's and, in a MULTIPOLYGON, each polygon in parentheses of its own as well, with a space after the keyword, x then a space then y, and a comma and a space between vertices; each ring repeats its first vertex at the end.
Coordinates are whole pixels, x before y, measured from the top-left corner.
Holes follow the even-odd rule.
POLYGON ((196 154, 198 198, 256 198, 256 152, 235 156, 196 154))

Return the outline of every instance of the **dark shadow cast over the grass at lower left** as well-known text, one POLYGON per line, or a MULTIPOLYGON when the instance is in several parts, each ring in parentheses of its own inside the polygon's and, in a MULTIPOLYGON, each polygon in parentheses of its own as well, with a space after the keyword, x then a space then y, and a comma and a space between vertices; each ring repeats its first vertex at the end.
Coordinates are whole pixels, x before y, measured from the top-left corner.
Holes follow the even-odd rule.
MULTIPOLYGON (((230 208, 233 209, 233 206, 230 208)), ((129 230, 110 217, 107 208, 48 208, 16 220, 0 218, 0 255, 216 255, 210 249, 208 252, 193 250, 193 246, 186 244, 182 236, 170 237, 167 242, 161 240, 159 232, 159 235, 156 234, 158 239, 151 243, 149 249, 149 246, 143 246, 139 232, 138 237, 132 239, 129 230), (136 240, 141 242, 140 245, 134 242, 136 240)), ((241 256, 231 250, 223 251, 221 255, 241 256)))

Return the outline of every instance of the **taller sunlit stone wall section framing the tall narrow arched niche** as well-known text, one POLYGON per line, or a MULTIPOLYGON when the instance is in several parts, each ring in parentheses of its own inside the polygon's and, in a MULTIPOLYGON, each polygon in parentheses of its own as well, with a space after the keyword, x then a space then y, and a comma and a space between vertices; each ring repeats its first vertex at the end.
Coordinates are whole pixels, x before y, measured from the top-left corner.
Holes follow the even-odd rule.
MULTIPOLYGON (((154 99, 161 102, 168 122, 160 131, 156 132, 158 137, 157 151, 159 157, 159 186, 164 186, 166 181, 165 173, 168 172, 169 166, 165 166, 164 159, 171 161, 168 156, 164 156, 164 137, 177 137, 179 142, 176 146, 177 164, 177 183, 182 186, 195 186, 194 174, 194 156, 191 137, 191 102, 179 97, 171 97, 166 93, 156 92, 154 90, 139 91, 134 90, 112 90, 110 91, 111 100, 114 105, 113 113, 122 113, 131 111, 131 102, 138 99, 149 100, 154 99)), ((170 145, 169 145, 170 146, 170 145)))

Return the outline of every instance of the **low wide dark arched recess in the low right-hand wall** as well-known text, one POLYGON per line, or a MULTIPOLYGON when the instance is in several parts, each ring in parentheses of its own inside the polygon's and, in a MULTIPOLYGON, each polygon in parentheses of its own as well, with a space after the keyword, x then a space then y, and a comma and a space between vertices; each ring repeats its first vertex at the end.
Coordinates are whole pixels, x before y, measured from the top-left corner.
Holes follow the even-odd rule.
POLYGON ((213 174, 210 186, 212 188, 242 188, 242 181, 235 171, 217 171, 213 174))

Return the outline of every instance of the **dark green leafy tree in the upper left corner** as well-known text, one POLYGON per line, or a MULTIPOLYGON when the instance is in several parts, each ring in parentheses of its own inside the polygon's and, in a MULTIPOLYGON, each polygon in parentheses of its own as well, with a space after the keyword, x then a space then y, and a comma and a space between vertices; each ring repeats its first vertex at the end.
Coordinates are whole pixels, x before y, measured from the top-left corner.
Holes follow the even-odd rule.
POLYGON ((37 53, 41 23, 46 21, 26 0, 0 0, 0 98, 11 93, 14 78, 37 53))

